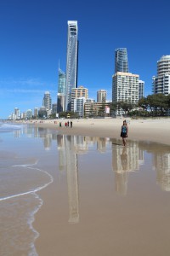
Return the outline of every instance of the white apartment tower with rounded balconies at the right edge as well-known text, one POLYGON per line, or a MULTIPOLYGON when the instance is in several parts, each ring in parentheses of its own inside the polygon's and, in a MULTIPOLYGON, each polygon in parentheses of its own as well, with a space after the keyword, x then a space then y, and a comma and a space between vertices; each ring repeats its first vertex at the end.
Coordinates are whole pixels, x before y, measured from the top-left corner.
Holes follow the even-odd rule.
POLYGON ((152 86, 154 94, 170 94, 170 55, 163 55, 157 61, 157 76, 152 77, 152 86))

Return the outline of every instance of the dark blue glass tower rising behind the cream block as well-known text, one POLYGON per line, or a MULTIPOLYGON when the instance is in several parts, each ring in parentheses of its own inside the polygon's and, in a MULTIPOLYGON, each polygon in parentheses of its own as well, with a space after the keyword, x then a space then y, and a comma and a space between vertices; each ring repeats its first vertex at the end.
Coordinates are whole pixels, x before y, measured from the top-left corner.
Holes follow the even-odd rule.
POLYGON ((115 73, 128 73, 127 49, 117 48, 115 50, 115 73))

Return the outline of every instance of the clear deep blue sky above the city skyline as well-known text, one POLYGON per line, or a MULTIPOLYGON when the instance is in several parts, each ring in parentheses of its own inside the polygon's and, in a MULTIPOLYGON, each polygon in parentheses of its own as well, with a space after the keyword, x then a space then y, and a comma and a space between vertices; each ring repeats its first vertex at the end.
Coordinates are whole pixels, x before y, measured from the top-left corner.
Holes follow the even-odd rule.
POLYGON ((14 108, 42 107, 46 90, 56 102, 67 20, 78 22, 78 86, 89 97, 105 89, 111 99, 115 49, 122 47, 129 72, 144 80, 144 96, 151 94, 156 61, 170 55, 169 9, 168 0, 0 0, 0 119, 14 108))

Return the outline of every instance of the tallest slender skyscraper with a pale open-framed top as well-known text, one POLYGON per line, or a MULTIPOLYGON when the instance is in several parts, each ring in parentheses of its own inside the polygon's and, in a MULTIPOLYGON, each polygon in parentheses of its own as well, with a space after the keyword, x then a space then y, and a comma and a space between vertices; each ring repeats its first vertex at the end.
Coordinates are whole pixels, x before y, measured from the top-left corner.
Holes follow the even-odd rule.
POLYGON ((71 89, 77 88, 78 40, 77 20, 68 20, 65 111, 71 110, 71 89))

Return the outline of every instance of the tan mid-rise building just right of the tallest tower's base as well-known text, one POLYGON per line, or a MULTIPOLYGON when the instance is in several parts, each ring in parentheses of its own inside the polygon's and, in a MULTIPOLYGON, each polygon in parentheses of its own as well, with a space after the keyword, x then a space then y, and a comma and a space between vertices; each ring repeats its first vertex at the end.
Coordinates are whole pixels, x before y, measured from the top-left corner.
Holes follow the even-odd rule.
POLYGON ((78 88, 71 89, 71 111, 74 111, 74 100, 77 98, 84 97, 88 99, 88 89, 84 88, 83 86, 79 86, 78 88))

